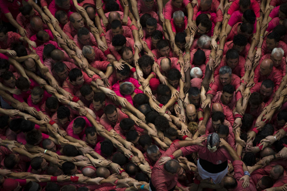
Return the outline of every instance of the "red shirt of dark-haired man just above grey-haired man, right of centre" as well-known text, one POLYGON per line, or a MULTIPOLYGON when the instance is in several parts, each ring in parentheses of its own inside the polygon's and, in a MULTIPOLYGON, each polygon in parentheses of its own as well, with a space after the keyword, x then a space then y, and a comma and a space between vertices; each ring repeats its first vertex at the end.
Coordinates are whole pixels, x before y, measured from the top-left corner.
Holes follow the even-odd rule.
MULTIPOLYGON (((234 67, 232 69, 232 73, 235 74, 236 76, 239 76, 239 77, 243 77, 244 74, 245 74, 245 69, 244 69, 244 65, 245 65, 245 59, 243 56, 240 56, 239 55, 239 58, 238 58, 238 64, 236 65, 236 67, 234 67)), ((221 62, 220 64, 215 68, 214 70, 214 76, 217 76, 219 75, 219 70, 222 66, 226 66, 226 56, 224 55, 221 59, 221 62)))

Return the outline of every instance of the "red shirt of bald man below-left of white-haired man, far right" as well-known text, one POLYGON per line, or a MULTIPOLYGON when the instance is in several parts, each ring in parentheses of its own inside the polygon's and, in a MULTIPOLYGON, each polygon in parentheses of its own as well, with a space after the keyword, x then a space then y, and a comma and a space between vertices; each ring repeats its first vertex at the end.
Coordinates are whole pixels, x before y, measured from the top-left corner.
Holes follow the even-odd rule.
POLYGON ((281 71, 273 66, 273 70, 268 76, 261 76, 259 70, 260 70, 260 64, 256 67, 254 71, 254 82, 257 83, 266 79, 270 79, 274 82, 275 85, 274 89, 276 91, 279 88, 281 80, 283 78, 281 71))

